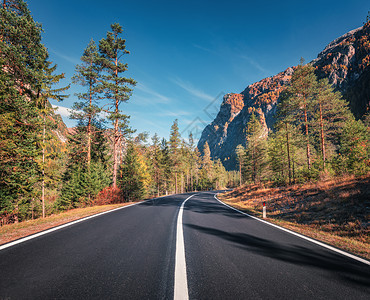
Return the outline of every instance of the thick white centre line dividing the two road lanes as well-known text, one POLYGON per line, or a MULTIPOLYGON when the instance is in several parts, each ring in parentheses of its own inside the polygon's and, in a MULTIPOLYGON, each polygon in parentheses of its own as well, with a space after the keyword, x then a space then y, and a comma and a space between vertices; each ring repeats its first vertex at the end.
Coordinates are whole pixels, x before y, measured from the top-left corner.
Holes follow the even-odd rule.
POLYGON ((185 243, 184 243, 184 232, 182 228, 182 215, 184 211, 184 205, 193 194, 186 198, 179 208, 179 214, 177 216, 177 229, 176 229, 176 256, 175 256, 175 286, 173 299, 174 300, 188 300, 188 279, 186 274, 186 260, 185 260, 185 243))

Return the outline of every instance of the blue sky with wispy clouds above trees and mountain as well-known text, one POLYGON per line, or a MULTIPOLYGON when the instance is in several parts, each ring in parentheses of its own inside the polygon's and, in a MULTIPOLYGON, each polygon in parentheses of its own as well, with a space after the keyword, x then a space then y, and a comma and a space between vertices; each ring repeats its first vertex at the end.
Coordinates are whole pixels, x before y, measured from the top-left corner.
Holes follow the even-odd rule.
MULTIPOLYGON (((354 1, 29 0, 43 43, 70 83, 88 42, 122 25, 130 55, 126 77, 138 84, 122 110, 138 132, 168 138, 179 120, 184 138, 212 121, 225 93, 307 62, 335 38, 362 26, 370 4, 354 1)), ((77 101, 72 86, 61 103, 77 101)))

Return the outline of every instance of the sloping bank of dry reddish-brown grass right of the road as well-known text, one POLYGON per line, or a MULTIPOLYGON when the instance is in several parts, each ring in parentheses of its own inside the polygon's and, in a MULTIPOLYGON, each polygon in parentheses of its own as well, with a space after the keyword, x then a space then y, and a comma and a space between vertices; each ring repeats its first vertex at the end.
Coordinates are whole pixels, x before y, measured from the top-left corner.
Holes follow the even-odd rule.
POLYGON ((267 221, 370 259, 370 175, 290 187, 243 186, 219 195, 267 221))

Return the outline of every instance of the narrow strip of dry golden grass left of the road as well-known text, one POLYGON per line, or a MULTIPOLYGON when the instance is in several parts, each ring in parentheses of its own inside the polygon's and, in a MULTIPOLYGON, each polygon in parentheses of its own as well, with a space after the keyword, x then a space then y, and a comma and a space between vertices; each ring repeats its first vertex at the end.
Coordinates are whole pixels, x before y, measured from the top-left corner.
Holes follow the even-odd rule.
POLYGON ((92 216, 129 204, 132 204, 132 202, 76 208, 66 212, 62 212, 60 214, 48 216, 45 219, 40 218, 20 223, 7 224, 0 227, 0 245, 55 226, 59 226, 68 222, 72 222, 84 217, 92 216))

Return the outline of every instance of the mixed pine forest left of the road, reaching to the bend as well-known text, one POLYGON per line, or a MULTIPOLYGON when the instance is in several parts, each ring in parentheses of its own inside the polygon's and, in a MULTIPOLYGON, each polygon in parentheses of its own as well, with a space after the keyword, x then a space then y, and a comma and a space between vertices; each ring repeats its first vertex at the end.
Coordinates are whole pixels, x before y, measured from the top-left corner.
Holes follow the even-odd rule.
POLYGON ((49 100, 68 97, 64 74, 49 59, 42 27, 22 0, 0 8, 0 216, 1 223, 45 217, 76 207, 232 186, 236 172, 201 157, 192 136, 169 140, 135 133, 121 104, 136 81, 123 76, 126 49, 115 23, 99 43, 91 40, 75 68, 77 95, 67 143, 49 100))

